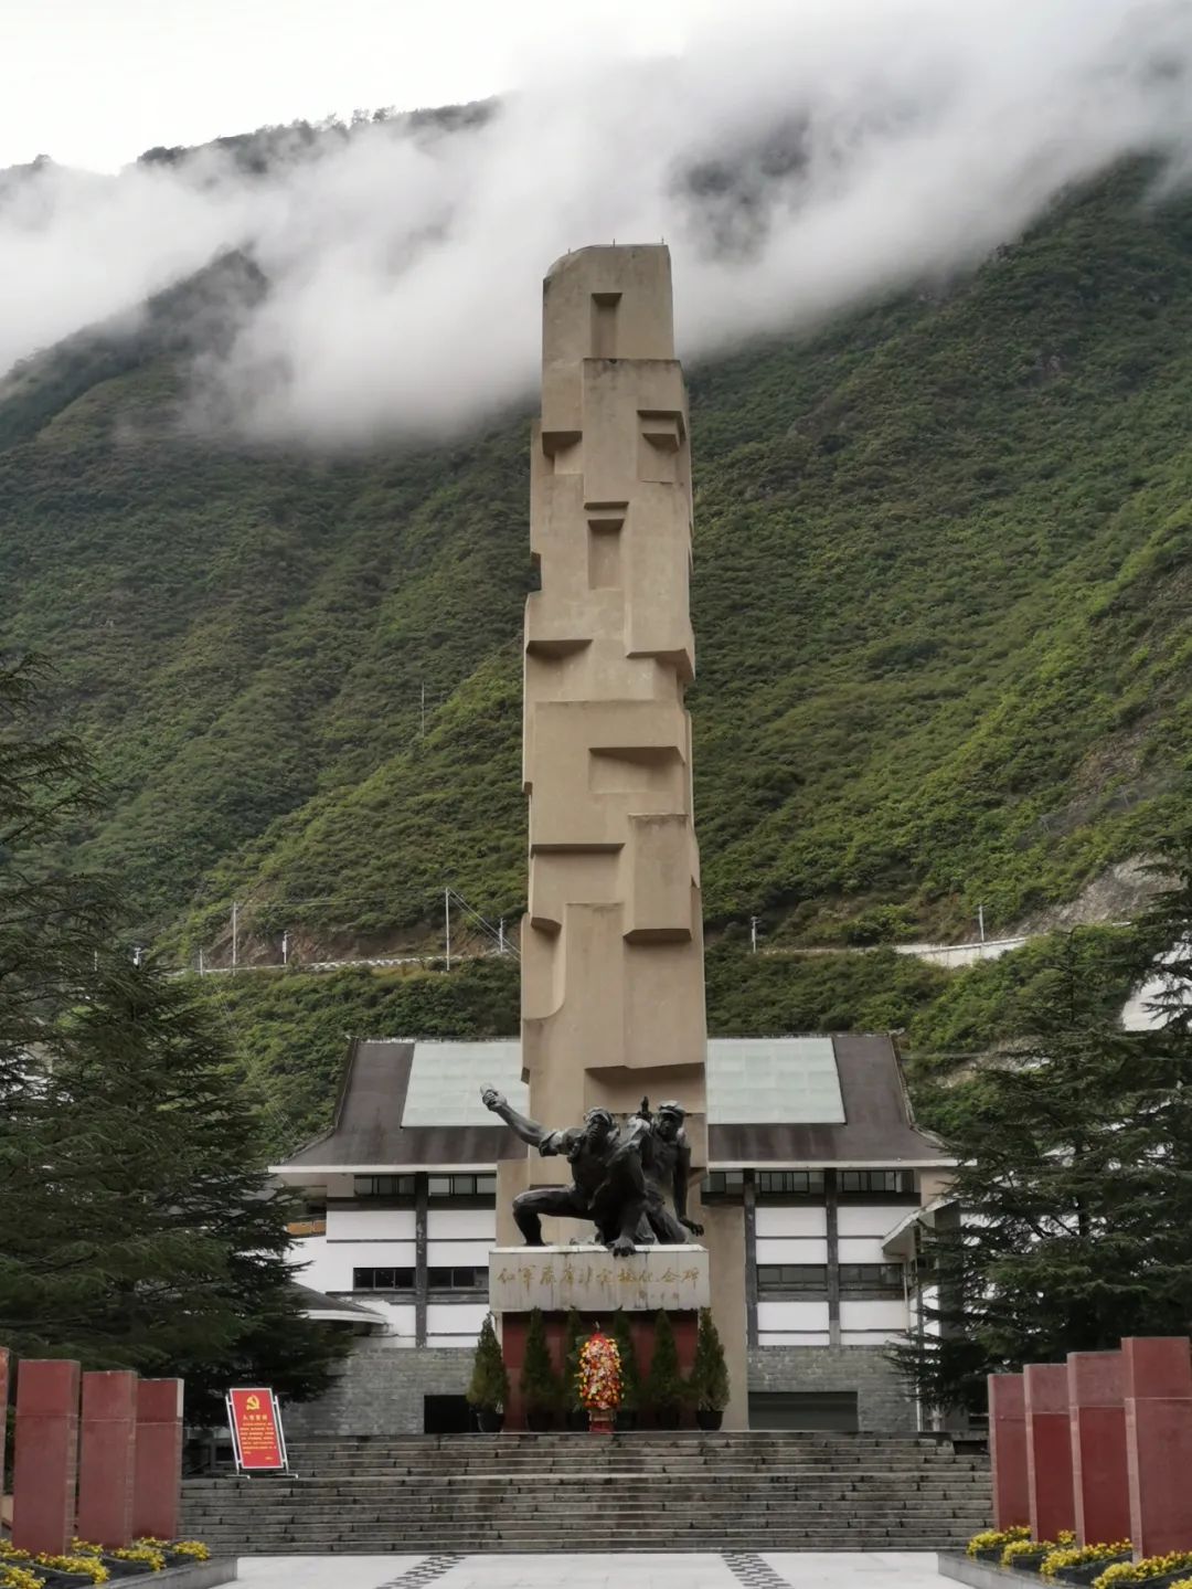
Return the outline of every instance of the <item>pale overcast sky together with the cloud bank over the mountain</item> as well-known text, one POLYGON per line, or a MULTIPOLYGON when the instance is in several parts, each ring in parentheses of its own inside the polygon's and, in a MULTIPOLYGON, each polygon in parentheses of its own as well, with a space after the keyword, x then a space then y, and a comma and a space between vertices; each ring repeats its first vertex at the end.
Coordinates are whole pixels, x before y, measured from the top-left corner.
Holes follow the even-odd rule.
POLYGON ((583 243, 667 240, 690 359, 948 281, 1122 159, 1187 184, 1192 0, 0 0, 0 167, 38 154, 0 377, 232 256, 268 289, 205 278, 195 423, 356 445, 525 400, 583 243), (451 135, 129 164, 506 89, 451 135))

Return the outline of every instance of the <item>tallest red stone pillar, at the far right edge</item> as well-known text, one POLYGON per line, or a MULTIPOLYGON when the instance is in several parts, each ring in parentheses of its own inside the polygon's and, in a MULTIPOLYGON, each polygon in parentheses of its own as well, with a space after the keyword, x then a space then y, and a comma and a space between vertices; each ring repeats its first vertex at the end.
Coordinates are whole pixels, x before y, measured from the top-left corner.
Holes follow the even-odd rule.
POLYGON ((1187 1336, 1122 1341, 1135 1556, 1192 1549, 1192 1352, 1187 1336))

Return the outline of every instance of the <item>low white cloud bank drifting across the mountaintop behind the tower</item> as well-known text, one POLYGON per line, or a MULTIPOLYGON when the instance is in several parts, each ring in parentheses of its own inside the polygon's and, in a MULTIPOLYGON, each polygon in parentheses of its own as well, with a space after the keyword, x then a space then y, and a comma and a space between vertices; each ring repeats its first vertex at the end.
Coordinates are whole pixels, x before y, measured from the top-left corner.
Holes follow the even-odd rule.
POLYGON ((271 291, 202 372, 217 412, 438 431, 532 388, 568 248, 665 237, 692 358, 968 265, 1122 156, 1187 170, 1190 78, 1187 0, 802 0, 668 60, 540 62, 467 133, 368 127, 265 180, 56 173, 0 207, 0 365, 244 248, 271 291))

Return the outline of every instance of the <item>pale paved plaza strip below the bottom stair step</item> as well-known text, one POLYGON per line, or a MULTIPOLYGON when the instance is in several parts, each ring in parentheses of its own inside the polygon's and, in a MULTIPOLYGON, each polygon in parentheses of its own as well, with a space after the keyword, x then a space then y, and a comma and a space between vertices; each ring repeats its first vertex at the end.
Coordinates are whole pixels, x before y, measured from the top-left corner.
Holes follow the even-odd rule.
POLYGON ((943 1589, 927 1554, 244 1556, 251 1589, 943 1589))

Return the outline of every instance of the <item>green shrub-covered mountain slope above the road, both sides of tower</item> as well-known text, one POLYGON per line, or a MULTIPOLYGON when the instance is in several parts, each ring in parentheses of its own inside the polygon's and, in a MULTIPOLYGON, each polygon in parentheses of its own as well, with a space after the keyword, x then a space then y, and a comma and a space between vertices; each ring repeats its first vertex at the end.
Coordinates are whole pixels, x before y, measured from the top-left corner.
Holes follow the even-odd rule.
MULTIPOLYGON (((1192 203, 1141 194, 1117 173, 948 294, 689 372, 713 928, 1006 928, 1170 828, 1192 203)), ((233 898, 310 952, 416 942, 446 883, 516 914, 525 416, 352 459, 187 440, 227 292, 192 299, 0 386, 0 637, 57 664, 111 777, 79 837, 190 950, 233 898)))

